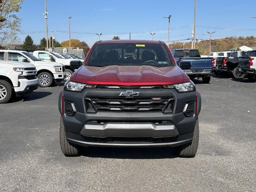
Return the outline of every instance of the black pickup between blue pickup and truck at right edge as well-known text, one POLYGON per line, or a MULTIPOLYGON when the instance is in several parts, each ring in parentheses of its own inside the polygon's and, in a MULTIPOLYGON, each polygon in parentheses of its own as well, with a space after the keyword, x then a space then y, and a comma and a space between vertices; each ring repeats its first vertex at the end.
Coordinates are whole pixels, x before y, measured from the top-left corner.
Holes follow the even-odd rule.
POLYGON ((248 59, 246 51, 235 51, 230 57, 219 57, 216 59, 216 70, 222 74, 232 73, 234 78, 244 78, 245 74, 237 70, 238 63, 248 59))

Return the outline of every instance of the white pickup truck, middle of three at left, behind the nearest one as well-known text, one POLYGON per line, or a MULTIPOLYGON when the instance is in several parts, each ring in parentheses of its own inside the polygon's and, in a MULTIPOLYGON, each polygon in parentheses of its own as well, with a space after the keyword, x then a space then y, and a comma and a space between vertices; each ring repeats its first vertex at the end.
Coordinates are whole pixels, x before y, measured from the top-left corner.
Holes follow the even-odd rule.
POLYGON ((29 62, 36 66, 40 87, 49 87, 56 82, 64 80, 65 67, 63 64, 56 62, 45 62, 36 58, 26 51, 20 50, 0 50, 0 58, 6 61, 29 62))

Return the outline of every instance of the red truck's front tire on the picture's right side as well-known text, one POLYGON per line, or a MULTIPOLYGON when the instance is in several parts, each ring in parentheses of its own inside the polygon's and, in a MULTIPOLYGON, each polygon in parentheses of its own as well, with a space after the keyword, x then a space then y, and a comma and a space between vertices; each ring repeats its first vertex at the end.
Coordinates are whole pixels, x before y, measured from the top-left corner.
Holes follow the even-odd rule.
POLYGON ((188 144, 184 144, 182 146, 178 146, 176 148, 176 152, 178 153, 179 157, 183 157, 183 158, 194 157, 197 152, 198 142, 199 142, 199 123, 197 120, 192 142, 188 144))

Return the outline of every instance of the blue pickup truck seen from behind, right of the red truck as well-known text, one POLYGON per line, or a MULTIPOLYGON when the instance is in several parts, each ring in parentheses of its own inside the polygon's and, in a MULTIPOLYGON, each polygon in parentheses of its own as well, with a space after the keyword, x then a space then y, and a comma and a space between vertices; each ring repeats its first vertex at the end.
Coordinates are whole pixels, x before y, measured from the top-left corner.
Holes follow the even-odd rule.
POLYGON ((210 82, 215 58, 201 57, 197 49, 173 49, 171 52, 190 79, 197 77, 202 78, 203 83, 210 82))

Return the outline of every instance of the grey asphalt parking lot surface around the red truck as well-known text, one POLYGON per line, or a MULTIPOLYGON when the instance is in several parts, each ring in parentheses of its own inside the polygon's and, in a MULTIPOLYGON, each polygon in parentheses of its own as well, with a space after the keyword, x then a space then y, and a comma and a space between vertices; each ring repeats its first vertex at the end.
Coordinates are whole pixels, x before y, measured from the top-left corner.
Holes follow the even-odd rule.
POLYGON ((0 191, 255 191, 256 83, 194 82, 202 95, 195 158, 178 158, 172 148, 96 147, 65 157, 57 106, 63 83, 1 104, 0 191))

